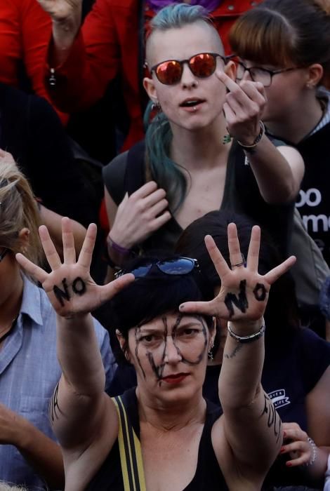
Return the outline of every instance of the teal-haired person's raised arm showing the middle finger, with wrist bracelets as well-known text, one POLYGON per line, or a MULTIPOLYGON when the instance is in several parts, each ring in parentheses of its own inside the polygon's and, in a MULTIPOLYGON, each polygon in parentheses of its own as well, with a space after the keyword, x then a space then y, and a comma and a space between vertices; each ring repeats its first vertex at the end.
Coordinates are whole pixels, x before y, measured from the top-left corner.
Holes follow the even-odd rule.
POLYGON ((265 135, 260 123, 267 104, 263 84, 249 80, 238 84, 220 70, 216 74, 228 90, 223 106, 228 132, 246 147, 261 196, 270 204, 295 201, 305 169, 303 159, 293 147, 275 147, 265 135))

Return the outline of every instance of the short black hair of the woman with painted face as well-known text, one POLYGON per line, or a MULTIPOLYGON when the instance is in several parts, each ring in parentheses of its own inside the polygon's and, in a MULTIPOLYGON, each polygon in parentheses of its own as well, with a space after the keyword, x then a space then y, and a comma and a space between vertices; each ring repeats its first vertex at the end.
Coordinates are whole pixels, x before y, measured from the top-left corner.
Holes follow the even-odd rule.
MULTIPOLYGON (((151 255, 141 256, 129 262, 125 271, 131 271, 147 262, 172 259, 177 255, 151 255)), ((123 353, 118 349, 118 343, 114 342, 114 331, 118 329, 128 340, 128 331, 138 325, 143 325, 152 319, 166 314, 166 312, 178 311, 183 302, 190 300, 211 300, 211 290, 207 288, 198 269, 193 269, 188 274, 171 275, 162 273, 157 266, 153 266, 149 273, 121 290, 110 302, 111 339, 114 356, 120 363, 123 361, 123 353)), ((211 317, 204 316, 209 328, 213 325, 211 317)), ((124 350, 125 351, 125 350, 124 350)))

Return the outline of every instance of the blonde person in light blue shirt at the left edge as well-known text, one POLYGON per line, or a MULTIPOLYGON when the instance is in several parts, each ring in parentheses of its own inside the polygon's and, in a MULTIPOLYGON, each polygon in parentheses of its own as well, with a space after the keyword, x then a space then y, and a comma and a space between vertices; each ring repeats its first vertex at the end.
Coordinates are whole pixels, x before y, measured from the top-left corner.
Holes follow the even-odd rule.
MULTIPOLYGON (((15 260, 24 252, 42 262, 39 212, 15 163, 0 162, 0 480, 29 490, 60 489, 64 471, 48 419, 60 379, 56 316, 44 290, 15 260)), ((109 335, 94 319, 98 347, 110 384, 115 368, 109 335)))

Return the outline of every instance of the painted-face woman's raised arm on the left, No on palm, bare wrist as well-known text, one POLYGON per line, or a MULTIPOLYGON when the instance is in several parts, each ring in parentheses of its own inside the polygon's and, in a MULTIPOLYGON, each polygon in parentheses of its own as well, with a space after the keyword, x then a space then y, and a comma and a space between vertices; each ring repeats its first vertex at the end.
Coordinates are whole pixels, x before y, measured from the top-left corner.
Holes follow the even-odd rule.
POLYGON ((133 280, 133 275, 122 276, 109 285, 94 283, 89 267, 95 224, 88 227, 77 262, 69 219, 62 219, 63 264, 46 227, 40 227, 39 234, 51 273, 20 254, 17 260, 41 282, 58 314, 57 349, 62 377, 53 394, 50 417, 62 446, 66 478, 83 486, 112 447, 118 428, 116 410, 104 393, 105 372, 89 312, 110 300, 133 280), (87 461, 92 464, 87 466, 87 461))

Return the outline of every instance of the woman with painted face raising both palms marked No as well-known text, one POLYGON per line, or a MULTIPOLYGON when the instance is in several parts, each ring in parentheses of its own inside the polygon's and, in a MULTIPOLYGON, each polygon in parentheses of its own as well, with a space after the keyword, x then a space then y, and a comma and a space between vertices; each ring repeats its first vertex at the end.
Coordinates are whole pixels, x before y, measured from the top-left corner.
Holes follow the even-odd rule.
POLYGON ((93 224, 77 262, 70 220, 62 220, 63 263, 46 227, 40 228, 50 274, 17 255, 58 314, 62 377, 50 412, 67 491, 133 490, 134 480, 141 490, 260 489, 282 445, 281 421, 260 385, 263 313, 272 283, 295 258, 261 276, 259 227, 251 233, 246 267, 235 224, 227 233, 231 268, 206 237, 221 282, 211 302, 202 301, 198 266, 186 257, 141 257, 122 271, 128 274, 96 285, 89 274, 93 224), (106 300, 112 300, 111 323, 138 378, 136 388, 114 400, 104 392, 88 313, 106 300), (213 316, 230 321, 218 385, 222 417, 202 397, 213 316), (125 460, 127 445, 132 466, 125 460))

